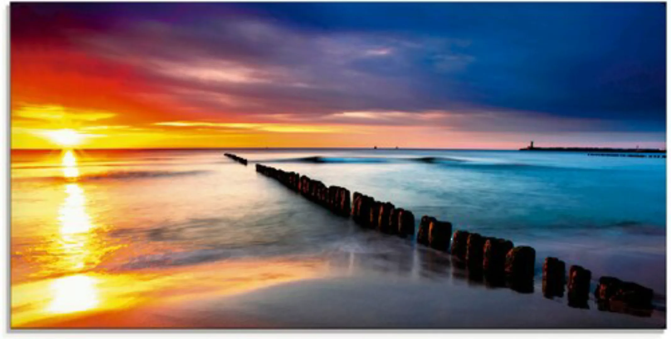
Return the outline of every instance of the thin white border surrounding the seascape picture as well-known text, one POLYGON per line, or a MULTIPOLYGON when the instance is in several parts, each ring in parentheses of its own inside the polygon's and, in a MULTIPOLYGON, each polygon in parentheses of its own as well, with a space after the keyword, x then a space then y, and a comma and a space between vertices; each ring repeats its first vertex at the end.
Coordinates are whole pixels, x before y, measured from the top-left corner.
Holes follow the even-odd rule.
MULTIPOLYGON (((447 336, 452 338, 488 338, 488 339, 503 339, 503 338, 566 338, 570 336, 572 339, 579 338, 643 338, 643 337, 671 337, 666 331, 661 330, 63 330, 63 331, 21 331, 21 330, 9 330, 9 202, 10 194, 9 192, 9 92, 10 92, 10 80, 9 80, 9 1, 0 0, 5 5, 5 15, 2 16, 2 25, 5 30, 1 35, 1 38, 4 40, 4 44, 1 46, 6 46, 3 53, 3 58, 5 61, 6 67, 1 70, 3 78, 6 79, 4 90, 0 91, 1 98, 6 107, 6 116, 5 119, 2 119, 2 128, 3 140, 5 140, 5 147, 3 151, 3 166, 1 167, 2 178, 5 180, 1 183, 2 188, 5 192, 1 196, 3 202, 0 204, 1 213, 5 218, 5 241, 0 242, 0 247, 3 254, 3 263, 5 264, 5 275, 6 279, 0 279, 2 282, 2 289, 5 293, 2 294, 3 306, 5 306, 0 312, 0 321, 3 325, 3 333, 0 336, 7 336, 11 338, 92 338, 92 337, 103 337, 103 338, 184 338, 197 336, 198 338, 219 338, 221 336, 226 336, 227 338, 314 338, 318 336, 320 338, 352 338, 359 336, 366 336, 366 338, 415 338, 416 336, 422 336, 423 338, 446 338, 447 336)), ((28 2, 28 1, 23 1, 28 2)), ((33 2, 33 1, 30 1, 33 2)), ((38 1, 34 1, 38 2, 38 1)), ((56 1, 54 1, 56 2, 56 1)), ((72 2, 72 1, 70 1, 72 2)), ((77 1, 79 2, 79 1, 77 1)), ((97 2, 97 1, 96 1, 97 2)), ((125 1, 130 2, 130 1, 125 1)), ((136 2, 136 1, 132 1, 136 2)), ((148 1, 143 1, 148 2, 148 1)), ((162 1, 156 1, 162 2, 162 1)), ((217 1, 213 1, 217 2, 217 1)), ((473 1, 476 2, 476 1, 473 1)), ((485 1, 477 1, 485 2, 485 1)), ((488 1, 488 2, 505 2, 505 1, 488 1)), ((618 1, 620 2, 620 1, 618 1)), ((631 2, 631 1, 629 1, 631 2)), ((663 1, 666 3, 666 1, 663 1)), ((666 9, 666 17, 668 21, 668 5, 666 9)), ((669 46, 670 34, 668 29, 668 24, 666 27, 666 45, 669 46)), ((669 68, 670 62, 667 52, 667 70, 669 68)), ((667 81, 667 120, 666 120, 666 130, 669 131, 670 121, 668 120, 668 111, 669 111, 669 86, 667 81)), ((669 167, 666 168, 667 178, 671 173, 669 167)), ((670 200, 668 198, 668 188, 670 184, 668 180, 666 181, 666 206, 667 211, 669 210, 670 200)), ((666 224, 669 224, 670 216, 667 212, 666 214, 666 224)), ((668 233, 668 232, 667 232, 668 233)), ((669 283, 669 260, 668 260, 668 249, 669 249, 669 238, 668 234, 666 237, 667 241, 667 259, 666 259, 666 283, 667 283, 667 294, 668 294, 668 283, 669 283)), ((667 301, 668 303, 668 301, 667 301)), ((503 311, 505 312, 505 310, 503 311)), ((667 324, 668 324, 668 314, 667 314, 667 324)), ((667 325, 668 326, 668 325, 667 325)))

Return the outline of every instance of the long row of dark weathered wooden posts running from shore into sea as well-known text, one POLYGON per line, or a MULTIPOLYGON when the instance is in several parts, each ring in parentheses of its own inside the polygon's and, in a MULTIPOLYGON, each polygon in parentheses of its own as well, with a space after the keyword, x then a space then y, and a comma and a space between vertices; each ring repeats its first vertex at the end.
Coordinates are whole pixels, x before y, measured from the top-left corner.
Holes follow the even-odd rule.
MULTIPOLYGON (((246 159, 243 160, 246 164, 246 159)), ((413 212, 397 208, 391 202, 380 202, 371 196, 354 192, 350 203, 350 190, 347 188, 326 186, 308 176, 262 164, 256 164, 256 172, 277 180, 339 216, 351 216, 362 228, 371 228, 403 238, 415 236, 413 212)), ((533 291, 535 250, 532 247, 515 247, 510 240, 482 236, 466 230, 452 233, 452 223, 437 220, 433 216, 421 217, 415 239, 420 245, 450 253, 453 263, 468 269, 472 279, 484 277, 491 285, 508 285, 523 293, 533 291)), ((566 285, 568 305, 588 308, 592 277, 588 269, 572 265, 566 281, 564 261, 547 257, 542 271, 545 297, 563 297, 566 285)), ((599 310, 641 316, 650 316, 652 313, 653 291, 637 283, 604 276, 599 279, 594 295, 599 310)))

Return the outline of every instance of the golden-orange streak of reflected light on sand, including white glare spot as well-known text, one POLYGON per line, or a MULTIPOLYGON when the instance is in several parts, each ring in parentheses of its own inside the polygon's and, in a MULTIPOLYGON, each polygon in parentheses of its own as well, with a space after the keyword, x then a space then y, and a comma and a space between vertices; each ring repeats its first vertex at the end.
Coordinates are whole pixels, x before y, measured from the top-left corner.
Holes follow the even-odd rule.
MULTIPOLYGON (((198 267, 86 273, 12 285, 13 328, 170 327, 172 310, 326 274, 318 259, 219 262, 198 267), (138 312, 134 311, 137 310, 138 312), (152 318, 158 312, 164 318, 152 318), (107 312, 113 311, 114 314, 107 312), (148 318, 138 320, 138 314, 148 318)), ((213 318, 214 319, 214 318, 213 318)), ((217 321, 217 320, 214 320, 217 321)), ((195 326, 195 325, 193 325, 195 326)))

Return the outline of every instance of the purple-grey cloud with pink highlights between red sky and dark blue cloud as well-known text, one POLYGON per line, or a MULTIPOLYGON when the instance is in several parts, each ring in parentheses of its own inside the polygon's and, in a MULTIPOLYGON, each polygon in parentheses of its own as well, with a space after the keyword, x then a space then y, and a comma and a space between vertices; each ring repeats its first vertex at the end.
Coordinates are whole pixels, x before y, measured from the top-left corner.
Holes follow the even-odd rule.
MULTIPOLYGON (((195 27, 142 21, 80 43, 103 58, 138 67, 194 111, 313 116, 444 106, 444 98, 426 100, 415 88, 421 79, 409 75, 425 72, 415 60, 433 54, 449 68, 450 51, 443 48, 452 42, 386 34, 313 34, 246 19, 205 21, 195 27), (384 60, 376 61, 380 58, 384 60)), ((455 70, 464 68, 460 58, 454 58, 455 70)))

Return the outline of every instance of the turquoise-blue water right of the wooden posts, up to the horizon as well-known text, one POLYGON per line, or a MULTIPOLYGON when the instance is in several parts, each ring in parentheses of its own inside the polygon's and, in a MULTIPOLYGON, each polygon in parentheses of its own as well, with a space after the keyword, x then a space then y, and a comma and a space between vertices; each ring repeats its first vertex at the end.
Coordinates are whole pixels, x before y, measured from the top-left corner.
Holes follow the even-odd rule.
POLYGON ((287 160, 292 155, 247 156, 280 161, 274 165, 464 226, 666 226, 664 159, 565 152, 342 151, 306 152, 307 159, 287 160), (310 159, 312 154, 322 157, 310 159))

